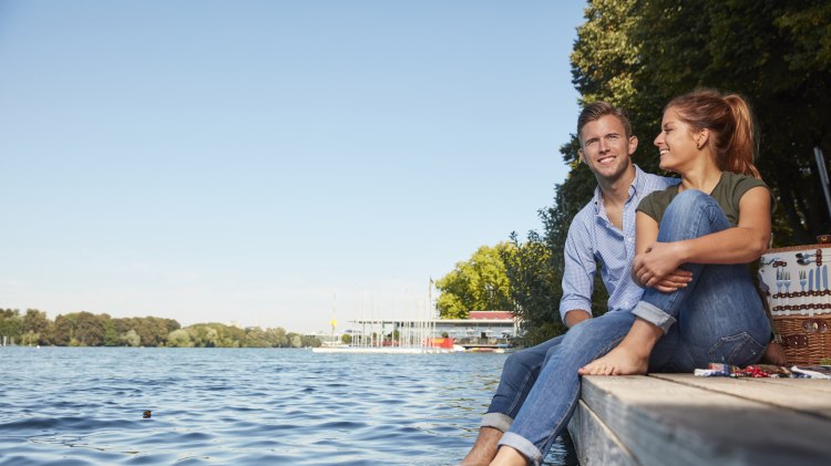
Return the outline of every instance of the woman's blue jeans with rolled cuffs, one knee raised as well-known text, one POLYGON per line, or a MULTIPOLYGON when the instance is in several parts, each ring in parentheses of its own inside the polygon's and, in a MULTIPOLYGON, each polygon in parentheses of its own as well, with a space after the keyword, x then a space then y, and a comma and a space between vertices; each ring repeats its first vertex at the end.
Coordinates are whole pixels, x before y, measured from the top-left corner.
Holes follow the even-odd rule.
MULTIPOLYGON (((658 241, 698 238, 729 228, 721 208, 697 190, 679 194, 660 222, 658 241)), ((648 289, 632 312, 612 312, 571 329, 543 365, 500 445, 542 463, 568 424, 579 400, 577 370, 615 348, 636 318, 665 331, 649 359, 650 371, 687 372, 709 362, 757 362, 770 336, 770 323, 743 265, 693 265, 685 289, 648 289)))

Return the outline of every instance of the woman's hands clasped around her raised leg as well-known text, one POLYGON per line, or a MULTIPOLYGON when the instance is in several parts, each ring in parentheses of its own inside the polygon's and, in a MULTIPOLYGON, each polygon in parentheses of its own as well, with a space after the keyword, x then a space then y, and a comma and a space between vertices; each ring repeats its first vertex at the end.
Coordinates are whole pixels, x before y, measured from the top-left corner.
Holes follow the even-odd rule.
POLYGON ((635 256, 633 273, 644 287, 652 287, 668 293, 684 288, 693 280, 693 272, 679 269, 680 245, 677 242, 654 242, 644 253, 635 256))

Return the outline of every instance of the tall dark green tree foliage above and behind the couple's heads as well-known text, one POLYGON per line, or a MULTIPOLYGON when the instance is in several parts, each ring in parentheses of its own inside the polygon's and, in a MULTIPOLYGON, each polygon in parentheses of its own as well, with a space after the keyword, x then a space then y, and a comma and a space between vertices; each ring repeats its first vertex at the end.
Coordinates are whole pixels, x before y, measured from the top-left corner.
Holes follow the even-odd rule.
MULTIPOLYGON (((573 81, 583 102, 629 110, 642 136, 635 160, 653 172, 650 143, 671 97, 696 87, 746 96, 760 134, 757 165, 778 200, 774 241, 813 242, 831 227, 813 157, 813 147, 827 157, 831 149, 829 24, 824 0, 593 1, 572 53, 573 81)), ((575 147, 563 146, 566 162, 575 147)))

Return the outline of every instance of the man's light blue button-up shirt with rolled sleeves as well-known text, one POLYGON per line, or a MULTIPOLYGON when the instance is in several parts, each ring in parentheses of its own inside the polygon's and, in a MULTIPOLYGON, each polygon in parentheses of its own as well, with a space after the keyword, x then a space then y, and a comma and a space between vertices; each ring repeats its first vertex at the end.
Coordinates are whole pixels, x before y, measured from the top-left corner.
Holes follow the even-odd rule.
POLYGON ((596 187, 594 197, 572 220, 565 240, 565 270, 560 315, 575 309, 592 312, 594 273, 601 263, 601 277, 608 291, 608 311, 628 310, 640 300, 644 290, 632 280, 635 257, 635 209, 647 194, 679 182, 677 178, 645 173, 635 166, 635 180, 623 208, 623 230, 608 219, 603 207, 603 193, 596 187))

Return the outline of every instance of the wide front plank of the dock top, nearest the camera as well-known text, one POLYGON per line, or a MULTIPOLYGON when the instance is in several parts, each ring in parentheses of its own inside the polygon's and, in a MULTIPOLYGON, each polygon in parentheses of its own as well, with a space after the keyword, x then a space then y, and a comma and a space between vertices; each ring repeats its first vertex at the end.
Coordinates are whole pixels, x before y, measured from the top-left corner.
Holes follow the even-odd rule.
POLYGON ((831 422, 724 393, 647 376, 586 376, 583 400, 644 466, 831 458, 831 422))

